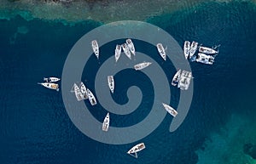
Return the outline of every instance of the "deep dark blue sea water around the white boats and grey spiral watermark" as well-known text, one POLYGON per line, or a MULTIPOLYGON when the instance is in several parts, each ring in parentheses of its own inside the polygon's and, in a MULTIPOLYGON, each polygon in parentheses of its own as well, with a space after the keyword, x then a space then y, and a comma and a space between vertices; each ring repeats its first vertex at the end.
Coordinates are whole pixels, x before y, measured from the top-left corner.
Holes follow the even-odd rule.
MULTIPOLYGON (((138 141, 147 147, 138 159, 125 153, 137 143, 102 144, 79 132, 67 116, 61 92, 37 84, 44 76, 61 76, 74 43, 100 24, 86 21, 68 26, 53 21, 27 21, 19 16, 0 20, 0 163, 196 163, 195 150, 200 149, 210 133, 222 127, 231 114, 255 116, 255 16, 253 3, 234 2, 201 3, 174 14, 148 19, 149 23, 169 32, 181 47, 185 40, 221 46, 214 65, 190 64, 195 77, 194 95, 182 126, 170 133, 172 116, 167 115, 154 133, 138 141), (17 31, 19 27, 20 31, 17 31)), ((144 48, 142 42, 135 43, 138 49, 142 48, 140 51, 152 50, 151 47, 144 48)), ((109 42, 103 48, 112 48, 114 44, 109 42)), ((102 57, 101 62, 104 59, 108 56, 102 57)), ((168 77, 175 72, 172 64, 163 65, 163 69, 169 70, 166 72, 168 77)), ((91 79, 95 73, 89 69, 83 74, 90 88, 94 86, 91 79)), ((126 89, 136 84, 148 96, 143 97, 139 111, 126 117, 113 116, 116 120, 113 126, 140 122, 148 115, 147 109, 154 99, 149 91, 152 84, 143 73, 131 70, 120 72, 116 80, 124 84, 117 88, 119 95, 125 95, 126 89), (122 76, 127 73, 137 78, 122 76), (137 112, 141 115, 136 116, 137 112)), ((177 89, 172 90, 174 95, 178 93, 177 89)), ((127 102, 125 96, 113 95, 113 99, 119 104, 127 102)), ((172 100, 177 106, 177 97, 172 95, 172 100)), ((101 108, 91 110, 91 113, 102 120, 104 112, 101 108)), ((205 163, 211 164, 211 161, 205 163)))

